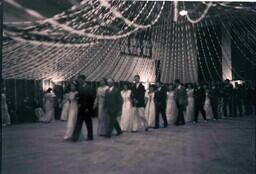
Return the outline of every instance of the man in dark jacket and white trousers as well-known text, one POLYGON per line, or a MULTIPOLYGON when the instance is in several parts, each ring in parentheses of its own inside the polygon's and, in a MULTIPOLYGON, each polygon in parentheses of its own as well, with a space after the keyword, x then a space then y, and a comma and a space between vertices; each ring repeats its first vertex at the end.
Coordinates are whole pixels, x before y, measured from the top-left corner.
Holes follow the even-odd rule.
MULTIPOLYGON (((135 84, 132 88, 132 105, 134 107, 134 117, 138 118, 140 121, 143 122, 143 125, 145 127, 145 131, 148 131, 148 122, 145 118, 145 88, 140 83, 140 76, 135 75, 134 76, 135 84)), ((133 126, 133 132, 137 131, 138 125, 133 126)))

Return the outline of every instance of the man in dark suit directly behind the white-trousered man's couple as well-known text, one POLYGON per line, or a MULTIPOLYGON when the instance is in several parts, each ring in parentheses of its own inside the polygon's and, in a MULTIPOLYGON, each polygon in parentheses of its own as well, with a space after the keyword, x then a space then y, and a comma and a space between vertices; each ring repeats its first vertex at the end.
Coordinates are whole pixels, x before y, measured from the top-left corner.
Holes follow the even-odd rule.
POLYGON ((163 86, 161 82, 156 83, 157 90, 155 92, 155 105, 156 105, 156 121, 155 121, 155 128, 159 128, 159 115, 161 114, 164 127, 168 126, 167 118, 166 118, 166 96, 167 90, 163 86))

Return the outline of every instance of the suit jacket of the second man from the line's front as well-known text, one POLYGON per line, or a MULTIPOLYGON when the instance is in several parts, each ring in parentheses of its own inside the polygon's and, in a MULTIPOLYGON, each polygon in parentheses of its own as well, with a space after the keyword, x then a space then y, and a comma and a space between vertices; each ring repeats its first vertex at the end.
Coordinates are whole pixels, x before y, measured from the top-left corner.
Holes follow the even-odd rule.
POLYGON ((112 91, 107 90, 105 93, 103 109, 112 117, 117 117, 121 110, 122 97, 120 91, 113 87, 112 91))

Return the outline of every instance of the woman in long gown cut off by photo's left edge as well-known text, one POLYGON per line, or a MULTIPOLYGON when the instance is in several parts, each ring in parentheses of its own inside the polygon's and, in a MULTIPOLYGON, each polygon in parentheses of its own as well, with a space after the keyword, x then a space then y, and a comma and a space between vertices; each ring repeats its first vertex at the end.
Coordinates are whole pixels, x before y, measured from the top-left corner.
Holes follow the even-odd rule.
POLYGON ((6 95, 5 95, 5 88, 3 88, 2 94, 1 94, 1 113, 2 113, 2 125, 10 125, 11 124, 11 118, 8 111, 7 101, 6 101, 6 95))

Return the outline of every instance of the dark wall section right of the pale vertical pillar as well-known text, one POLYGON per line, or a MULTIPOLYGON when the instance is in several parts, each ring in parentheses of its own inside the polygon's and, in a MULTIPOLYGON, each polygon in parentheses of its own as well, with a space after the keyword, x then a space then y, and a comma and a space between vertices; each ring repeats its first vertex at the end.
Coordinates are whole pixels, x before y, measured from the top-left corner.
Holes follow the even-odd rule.
POLYGON ((256 23, 234 21, 231 34, 232 75, 235 80, 256 80, 256 23))

